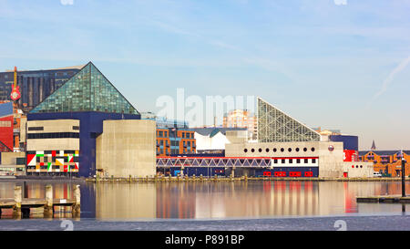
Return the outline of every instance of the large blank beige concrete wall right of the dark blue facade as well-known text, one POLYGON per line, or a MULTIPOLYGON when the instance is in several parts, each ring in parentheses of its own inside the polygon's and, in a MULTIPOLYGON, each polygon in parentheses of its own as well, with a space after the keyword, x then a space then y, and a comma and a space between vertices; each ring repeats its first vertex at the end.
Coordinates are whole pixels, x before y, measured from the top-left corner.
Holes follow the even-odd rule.
POLYGON ((106 176, 146 177, 156 173, 154 120, 104 120, 97 137, 97 170, 106 176))

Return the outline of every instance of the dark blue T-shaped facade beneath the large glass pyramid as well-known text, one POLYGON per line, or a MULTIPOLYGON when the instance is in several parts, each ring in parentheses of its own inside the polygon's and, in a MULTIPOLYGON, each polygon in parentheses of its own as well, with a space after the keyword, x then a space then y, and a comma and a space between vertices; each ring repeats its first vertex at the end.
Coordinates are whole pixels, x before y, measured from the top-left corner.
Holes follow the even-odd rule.
POLYGON ((79 175, 96 174, 96 138, 103 132, 103 121, 108 119, 140 119, 139 114, 106 113, 96 111, 29 113, 27 120, 79 119, 80 148, 79 175))

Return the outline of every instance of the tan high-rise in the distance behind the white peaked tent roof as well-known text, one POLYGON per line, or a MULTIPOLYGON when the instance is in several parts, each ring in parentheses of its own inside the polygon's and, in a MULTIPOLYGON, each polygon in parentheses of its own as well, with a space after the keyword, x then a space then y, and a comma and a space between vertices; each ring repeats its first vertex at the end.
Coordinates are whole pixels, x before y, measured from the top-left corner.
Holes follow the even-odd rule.
POLYGON ((249 138, 256 140, 257 120, 247 109, 234 109, 226 113, 223 117, 223 128, 246 128, 249 138))

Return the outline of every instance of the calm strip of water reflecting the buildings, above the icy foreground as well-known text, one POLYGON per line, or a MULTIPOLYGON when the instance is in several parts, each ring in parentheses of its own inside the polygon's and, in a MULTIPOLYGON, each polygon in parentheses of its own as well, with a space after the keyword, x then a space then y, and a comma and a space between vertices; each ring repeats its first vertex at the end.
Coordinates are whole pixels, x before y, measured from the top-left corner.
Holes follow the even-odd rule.
MULTIPOLYGON (((15 184, 0 182, 0 198, 13 198, 15 184)), ((73 197, 73 182, 52 183, 54 196, 73 197)), ((26 182, 27 198, 44 198, 46 182, 26 182)), ((410 189, 410 182, 406 189, 410 189)), ((355 202, 356 196, 400 194, 400 182, 159 182, 80 184, 81 218, 209 219, 401 213, 401 204, 355 202)), ((408 210, 408 207, 407 207, 408 210)), ((56 217, 69 217, 56 210, 56 217)), ((11 215, 3 211, 2 218, 11 215)), ((32 218, 41 218, 34 210, 32 218)))

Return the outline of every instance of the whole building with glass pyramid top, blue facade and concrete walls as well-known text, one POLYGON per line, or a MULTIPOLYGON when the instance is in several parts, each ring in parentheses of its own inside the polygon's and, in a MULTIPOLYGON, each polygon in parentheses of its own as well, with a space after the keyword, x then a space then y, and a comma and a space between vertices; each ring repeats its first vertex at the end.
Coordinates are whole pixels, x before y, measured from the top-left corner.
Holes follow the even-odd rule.
POLYGON ((155 122, 140 114, 93 63, 27 114, 27 174, 155 174, 155 122))

